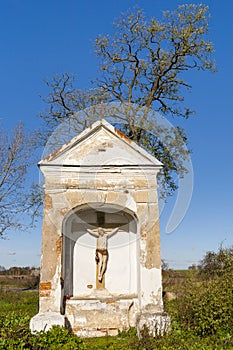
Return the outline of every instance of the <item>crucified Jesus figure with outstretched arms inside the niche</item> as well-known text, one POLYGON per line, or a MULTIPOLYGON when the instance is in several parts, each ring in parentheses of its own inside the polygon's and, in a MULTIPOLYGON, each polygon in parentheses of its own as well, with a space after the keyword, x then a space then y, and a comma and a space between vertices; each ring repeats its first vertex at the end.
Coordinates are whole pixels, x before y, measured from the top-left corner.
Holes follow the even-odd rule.
POLYGON ((89 232, 91 235, 97 237, 97 244, 96 244, 96 263, 98 265, 98 280, 99 282, 102 281, 103 275, 107 268, 107 261, 108 261, 108 247, 107 247, 107 240, 108 237, 114 235, 119 230, 119 227, 115 228, 114 230, 107 232, 102 227, 98 227, 97 230, 90 230, 87 229, 87 232, 89 232))

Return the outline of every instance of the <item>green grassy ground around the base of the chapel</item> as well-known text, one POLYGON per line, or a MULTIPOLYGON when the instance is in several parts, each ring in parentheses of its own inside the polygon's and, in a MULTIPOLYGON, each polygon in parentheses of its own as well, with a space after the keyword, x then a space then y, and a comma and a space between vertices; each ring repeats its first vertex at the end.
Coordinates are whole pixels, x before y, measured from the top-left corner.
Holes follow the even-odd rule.
MULTIPOLYGON (((225 283, 226 280, 220 282, 225 283)), ((233 349, 233 330, 231 328, 232 322, 229 319, 230 316, 233 316, 233 310, 229 309, 230 307, 233 307, 233 304, 231 304, 232 289, 230 290, 231 298, 227 299, 227 294, 224 294, 224 298, 216 299, 216 303, 213 305, 213 310, 216 309, 216 305, 217 307, 219 305, 219 308, 221 308, 219 309, 221 313, 217 314, 216 319, 214 315, 212 316, 212 309, 209 311, 209 307, 213 302, 213 296, 211 295, 218 294, 218 289, 216 288, 219 286, 220 282, 212 281, 208 282, 207 284, 198 278, 198 275, 195 271, 166 272, 164 276, 164 288, 167 291, 173 291, 178 295, 178 298, 176 300, 165 302, 166 311, 171 315, 172 318, 172 330, 166 336, 159 337, 157 339, 151 338, 145 330, 140 340, 137 338, 134 329, 130 329, 127 332, 122 332, 116 337, 106 336, 103 338, 91 338, 83 340, 70 335, 68 330, 61 330, 56 328, 48 333, 32 335, 29 331, 29 320, 38 312, 38 292, 36 290, 7 291, 3 288, 0 288, 0 349, 233 349), (195 288, 197 288, 197 292, 195 292, 195 288), (207 292, 213 292, 214 294, 209 294, 206 297, 207 292), (201 298, 200 293, 203 293, 203 296, 201 298), (193 298, 192 300, 187 299, 190 295, 193 298), (195 309, 198 300, 202 301, 205 299, 205 297, 207 298, 207 302, 203 304, 203 306, 200 305, 200 309, 195 309), (209 297, 212 299, 208 299, 209 297), (188 302, 185 302, 186 299, 188 302), (227 305, 225 305, 226 300, 228 300, 227 305), (221 303, 225 304, 223 305, 221 303), (191 307, 190 310, 189 306, 191 307), (201 322, 204 322, 204 325, 202 323, 200 324, 199 321, 199 323, 195 321, 196 316, 192 313, 194 310, 196 313, 199 312, 200 316, 202 317, 200 310, 203 308, 204 317, 201 319, 201 322), (224 318, 222 323, 217 324, 217 327, 213 326, 217 321, 221 320, 221 318, 225 316, 228 318, 224 318), (185 319, 185 317, 190 319, 185 319), (215 322, 213 325, 211 323, 212 319, 215 322), (228 324, 227 322, 231 323, 228 324), (222 326, 222 324, 225 326, 222 326)), ((231 280, 228 282, 230 284, 231 280)), ((223 287, 224 285, 220 285, 220 290, 222 293, 227 293, 228 289, 225 291, 223 287)), ((216 312, 217 311, 218 310, 216 310, 216 312)))

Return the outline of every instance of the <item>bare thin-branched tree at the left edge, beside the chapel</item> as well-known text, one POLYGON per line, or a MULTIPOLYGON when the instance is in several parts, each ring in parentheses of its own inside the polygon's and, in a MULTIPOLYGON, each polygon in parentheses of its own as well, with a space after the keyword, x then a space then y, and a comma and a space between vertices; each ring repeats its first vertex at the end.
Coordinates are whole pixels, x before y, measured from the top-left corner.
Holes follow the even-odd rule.
POLYGON ((22 213, 33 207, 30 185, 25 183, 31 165, 30 149, 31 142, 22 124, 12 133, 0 130, 0 237, 9 229, 22 228, 22 213))

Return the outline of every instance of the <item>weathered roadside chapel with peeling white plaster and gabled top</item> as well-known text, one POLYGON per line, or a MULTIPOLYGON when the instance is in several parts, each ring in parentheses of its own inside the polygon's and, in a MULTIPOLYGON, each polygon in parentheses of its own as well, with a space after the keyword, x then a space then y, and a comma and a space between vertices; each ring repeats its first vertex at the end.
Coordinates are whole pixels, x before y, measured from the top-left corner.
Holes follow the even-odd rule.
POLYGON ((45 177, 39 313, 32 331, 80 337, 146 325, 163 312, 156 176, 162 164, 101 119, 39 163, 45 177))

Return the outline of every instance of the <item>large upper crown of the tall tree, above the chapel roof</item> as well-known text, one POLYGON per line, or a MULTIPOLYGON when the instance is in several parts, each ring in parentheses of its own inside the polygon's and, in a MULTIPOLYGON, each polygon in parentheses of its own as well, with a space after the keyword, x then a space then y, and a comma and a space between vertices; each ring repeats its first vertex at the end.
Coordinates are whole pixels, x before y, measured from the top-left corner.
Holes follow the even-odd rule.
MULTIPOLYGON (((140 9, 124 13, 115 22, 113 36, 96 39, 102 70, 98 86, 128 104, 128 118, 132 103, 188 117, 190 110, 179 104, 182 90, 190 88, 184 72, 214 69, 212 44, 206 39, 208 17, 208 7, 201 4, 178 6, 161 19, 148 19, 140 9)), ((132 117, 129 123, 133 133, 135 121, 132 117)))

